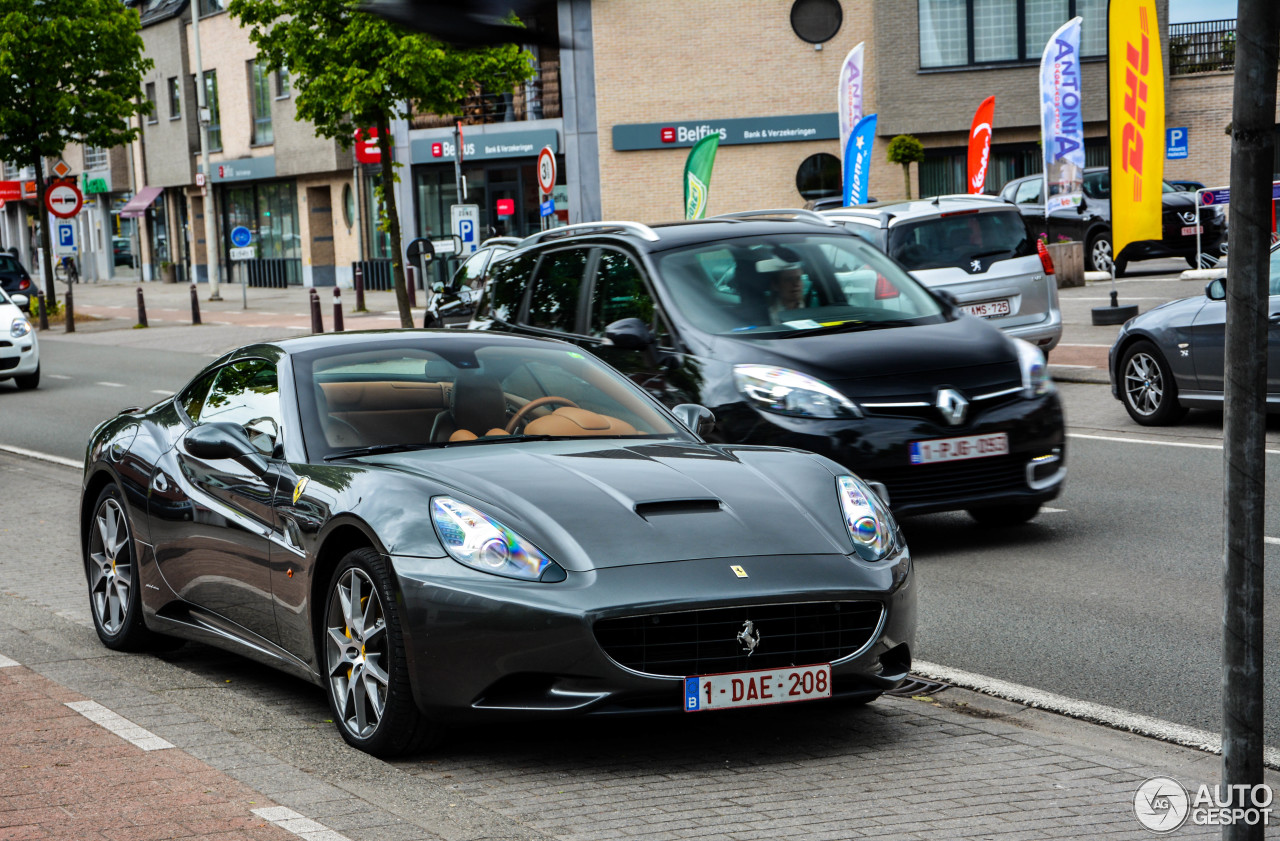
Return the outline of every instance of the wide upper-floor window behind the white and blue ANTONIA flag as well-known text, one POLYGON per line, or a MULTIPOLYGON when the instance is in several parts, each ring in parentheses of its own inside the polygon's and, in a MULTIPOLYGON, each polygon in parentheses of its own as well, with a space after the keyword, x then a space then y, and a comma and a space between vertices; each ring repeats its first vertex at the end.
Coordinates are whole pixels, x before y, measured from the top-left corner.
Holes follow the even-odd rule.
POLYGON ((916 0, 920 68, 1038 63, 1060 26, 1079 15, 1080 55, 1106 55, 1106 0, 916 0))

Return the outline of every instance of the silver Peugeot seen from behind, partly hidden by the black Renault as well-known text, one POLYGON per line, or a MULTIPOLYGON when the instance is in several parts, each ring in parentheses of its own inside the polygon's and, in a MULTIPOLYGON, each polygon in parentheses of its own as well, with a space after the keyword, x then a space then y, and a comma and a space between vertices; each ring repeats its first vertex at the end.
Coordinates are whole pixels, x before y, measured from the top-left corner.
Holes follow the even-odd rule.
POLYGON ((938 196, 822 212, 1009 335, 1046 355, 1062 338, 1053 262, 1002 198, 938 196))

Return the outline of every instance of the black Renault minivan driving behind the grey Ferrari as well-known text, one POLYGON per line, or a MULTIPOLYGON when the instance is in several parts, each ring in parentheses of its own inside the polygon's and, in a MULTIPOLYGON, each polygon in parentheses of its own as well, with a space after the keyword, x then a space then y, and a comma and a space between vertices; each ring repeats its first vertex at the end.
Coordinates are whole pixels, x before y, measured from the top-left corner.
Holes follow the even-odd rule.
POLYGON ((667 406, 710 408, 709 440, 822 453, 895 513, 1020 524, 1062 489, 1043 355, 818 214, 570 225, 489 278, 472 329, 575 342, 667 406))

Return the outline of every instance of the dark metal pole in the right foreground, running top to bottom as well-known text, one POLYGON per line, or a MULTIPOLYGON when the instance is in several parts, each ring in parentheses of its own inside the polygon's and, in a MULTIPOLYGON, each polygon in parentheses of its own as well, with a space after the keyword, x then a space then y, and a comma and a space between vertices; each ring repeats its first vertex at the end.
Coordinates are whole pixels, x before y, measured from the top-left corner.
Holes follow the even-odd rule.
MULTIPOLYGON (((1235 33, 1222 453, 1222 786, 1233 806, 1248 808, 1248 794, 1240 792, 1262 783, 1263 451, 1280 5, 1240 0, 1235 33)), ((1262 841, 1263 829, 1236 822, 1222 827, 1222 838, 1262 841)))

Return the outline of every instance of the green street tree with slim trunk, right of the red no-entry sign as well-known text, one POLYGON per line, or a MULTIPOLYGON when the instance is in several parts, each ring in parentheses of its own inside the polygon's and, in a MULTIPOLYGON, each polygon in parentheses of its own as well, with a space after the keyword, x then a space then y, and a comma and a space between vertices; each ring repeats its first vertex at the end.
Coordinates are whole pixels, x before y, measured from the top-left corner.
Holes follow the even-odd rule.
POLYGON ((511 90, 532 76, 532 56, 515 45, 458 50, 360 12, 361 0, 232 0, 261 60, 287 69, 297 118, 349 146, 357 128, 378 129, 383 224, 401 324, 413 326, 404 288, 404 250, 396 211, 390 122, 408 110, 456 113, 475 87, 511 90))

